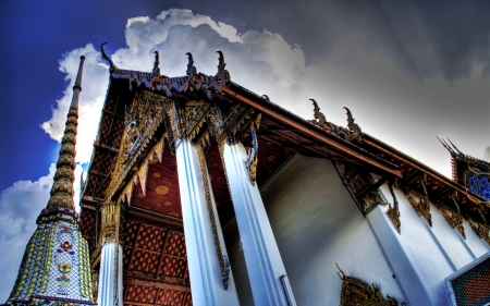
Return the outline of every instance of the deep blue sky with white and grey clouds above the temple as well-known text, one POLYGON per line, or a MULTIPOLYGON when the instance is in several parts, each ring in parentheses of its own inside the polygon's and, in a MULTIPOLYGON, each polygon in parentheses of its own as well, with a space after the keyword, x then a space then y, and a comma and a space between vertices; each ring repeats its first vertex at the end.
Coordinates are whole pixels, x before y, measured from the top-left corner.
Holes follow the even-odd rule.
POLYGON ((3 1, 0 299, 49 197, 81 54, 86 133, 77 160, 89 160, 108 82, 98 54, 106 40, 117 64, 132 70, 150 71, 159 50, 170 76, 185 74, 187 51, 198 71, 215 73, 221 49, 234 82, 308 119, 309 98, 336 124, 345 125, 350 107, 364 132, 445 175, 450 157, 437 135, 490 159, 490 4, 430 3, 3 1))

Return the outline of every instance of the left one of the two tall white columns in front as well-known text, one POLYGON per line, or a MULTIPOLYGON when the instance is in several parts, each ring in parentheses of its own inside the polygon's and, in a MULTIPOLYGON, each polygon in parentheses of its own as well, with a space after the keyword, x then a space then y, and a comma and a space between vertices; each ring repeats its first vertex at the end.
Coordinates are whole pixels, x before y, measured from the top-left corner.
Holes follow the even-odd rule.
MULTIPOLYGON (((207 192, 215 215, 218 243, 221 246, 222 255, 228 257, 228 254, 206 168, 205 178, 201 174, 197 145, 188 140, 182 140, 175 149, 175 155, 193 304, 209 306, 240 305, 231 270, 228 289, 224 289, 208 210, 207 192), (205 183, 208 191, 205 188, 205 183)), ((205 164, 204 161, 203 166, 205 164)))

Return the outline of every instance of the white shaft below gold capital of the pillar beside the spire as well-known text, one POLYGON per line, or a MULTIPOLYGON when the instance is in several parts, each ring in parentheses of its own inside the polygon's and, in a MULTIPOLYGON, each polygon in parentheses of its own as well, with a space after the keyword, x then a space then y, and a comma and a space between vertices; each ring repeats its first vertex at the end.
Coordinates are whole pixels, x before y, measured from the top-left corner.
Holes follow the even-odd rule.
POLYGON ((115 254, 115 242, 105 242, 100 254, 99 291, 97 304, 99 306, 122 306, 122 246, 118 244, 119 252, 115 254), (119 257, 115 262, 115 257, 119 257), (117 265, 118 264, 118 265, 117 265), (114 294, 117 292, 118 294, 114 294))

